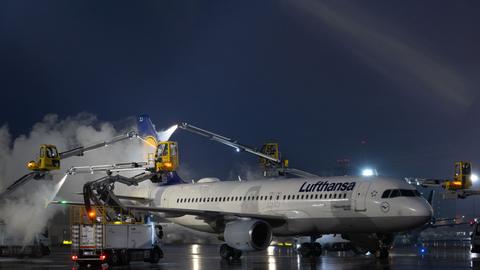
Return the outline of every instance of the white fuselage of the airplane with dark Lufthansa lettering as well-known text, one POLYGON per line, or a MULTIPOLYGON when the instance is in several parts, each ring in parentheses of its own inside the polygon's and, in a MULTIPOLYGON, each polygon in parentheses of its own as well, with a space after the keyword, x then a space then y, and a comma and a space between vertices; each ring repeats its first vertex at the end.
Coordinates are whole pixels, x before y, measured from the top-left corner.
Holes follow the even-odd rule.
MULTIPOLYGON (((432 208, 414 192, 405 181, 345 176, 179 184, 155 188, 150 197, 157 207, 282 216, 286 222, 273 228, 274 235, 298 236, 388 233, 422 226, 430 221, 432 208), (389 198, 386 190, 405 192, 389 198)), ((170 220, 218 232, 192 215, 170 220)))

